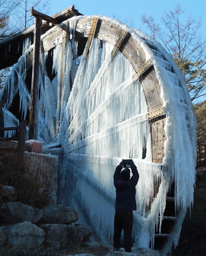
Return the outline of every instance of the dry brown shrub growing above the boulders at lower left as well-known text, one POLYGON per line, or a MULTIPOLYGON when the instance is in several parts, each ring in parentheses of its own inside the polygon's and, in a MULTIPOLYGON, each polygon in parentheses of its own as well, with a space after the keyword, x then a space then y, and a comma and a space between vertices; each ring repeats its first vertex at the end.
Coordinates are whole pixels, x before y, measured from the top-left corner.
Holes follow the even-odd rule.
POLYGON ((14 187, 18 202, 39 208, 51 201, 52 188, 49 177, 42 179, 41 170, 36 166, 37 162, 31 161, 30 155, 26 155, 24 161, 13 154, 3 155, 0 157, 0 186, 14 187))

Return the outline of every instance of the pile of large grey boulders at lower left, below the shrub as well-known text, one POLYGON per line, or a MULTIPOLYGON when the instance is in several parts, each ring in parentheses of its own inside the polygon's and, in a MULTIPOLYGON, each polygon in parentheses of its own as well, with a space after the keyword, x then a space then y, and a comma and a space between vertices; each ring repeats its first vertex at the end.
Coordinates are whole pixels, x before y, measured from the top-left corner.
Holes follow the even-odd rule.
POLYGON ((92 235, 90 227, 74 224, 78 214, 73 207, 52 204, 37 209, 14 202, 16 193, 8 186, 0 189, 0 197, 11 201, 0 205, 2 246, 76 248, 92 235))

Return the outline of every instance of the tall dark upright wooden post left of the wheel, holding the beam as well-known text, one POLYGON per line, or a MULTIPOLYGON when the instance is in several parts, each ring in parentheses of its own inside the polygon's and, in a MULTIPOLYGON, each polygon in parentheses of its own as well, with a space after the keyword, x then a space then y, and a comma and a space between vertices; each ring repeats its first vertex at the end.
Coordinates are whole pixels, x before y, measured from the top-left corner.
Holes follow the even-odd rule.
POLYGON ((31 78, 31 97, 29 115, 29 140, 38 139, 38 101, 39 101, 39 59, 42 18, 35 17, 33 42, 33 64, 31 78))

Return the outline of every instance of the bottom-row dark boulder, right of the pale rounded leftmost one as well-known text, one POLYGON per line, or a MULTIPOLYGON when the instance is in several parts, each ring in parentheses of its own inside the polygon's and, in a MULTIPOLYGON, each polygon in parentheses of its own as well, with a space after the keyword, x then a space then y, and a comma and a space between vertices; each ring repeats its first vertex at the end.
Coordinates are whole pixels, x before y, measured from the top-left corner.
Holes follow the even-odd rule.
POLYGON ((77 248, 80 246, 83 239, 83 232, 75 225, 41 224, 39 227, 46 233, 45 246, 77 248))

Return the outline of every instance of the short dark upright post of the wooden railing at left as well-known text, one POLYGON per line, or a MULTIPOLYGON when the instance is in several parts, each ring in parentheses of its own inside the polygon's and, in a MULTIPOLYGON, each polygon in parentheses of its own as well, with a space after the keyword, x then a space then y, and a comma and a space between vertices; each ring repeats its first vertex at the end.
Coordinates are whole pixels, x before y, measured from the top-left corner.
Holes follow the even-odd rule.
POLYGON ((21 120, 19 124, 17 155, 19 160, 24 160, 25 141, 26 141, 26 120, 21 120))

